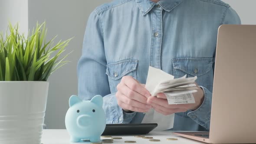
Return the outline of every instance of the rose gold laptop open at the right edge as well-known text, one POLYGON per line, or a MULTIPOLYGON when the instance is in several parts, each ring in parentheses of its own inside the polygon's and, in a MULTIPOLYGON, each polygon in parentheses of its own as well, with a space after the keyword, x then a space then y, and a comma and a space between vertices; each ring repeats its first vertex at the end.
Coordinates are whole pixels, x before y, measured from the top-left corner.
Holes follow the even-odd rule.
POLYGON ((256 25, 218 30, 210 132, 174 134, 210 144, 256 143, 256 25))

